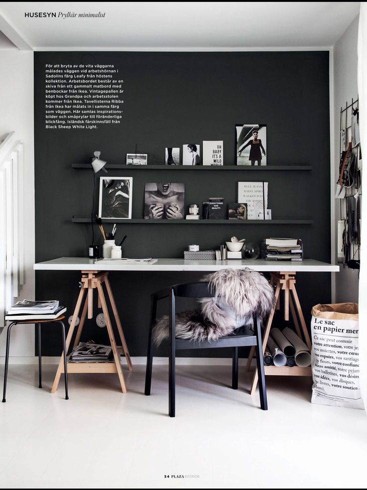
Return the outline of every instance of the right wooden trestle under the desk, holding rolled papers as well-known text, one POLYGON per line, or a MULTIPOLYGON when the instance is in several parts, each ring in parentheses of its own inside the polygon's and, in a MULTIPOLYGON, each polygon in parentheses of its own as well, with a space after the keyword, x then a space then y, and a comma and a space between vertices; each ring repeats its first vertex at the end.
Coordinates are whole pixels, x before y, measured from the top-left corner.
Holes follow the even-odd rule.
MULTIPOLYGON (((301 309, 301 304, 298 299, 297 291, 296 291, 296 279, 295 279, 295 272, 272 272, 271 277, 270 277, 270 284, 272 286, 276 286, 275 288, 275 305, 273 310, 269 314, 268 321, 266 322, 265 330, 264 330, 264 335, 263 335, 263 343, 262 343, 262 353, 264 355, 265 349, 266 349, 266 344, 268 342, 269 334, 270 334, 270 329, 271 329, 271 324, 273 322, 274 318, 274 313, 275 310, 280 309, 280 291, 283 291, 284 293, 284 320, 289 321, 289 310, 291 311, 291 316, 292 320, 294 322, 294 326, 296 329, 297 335, 302 339, 302 334, 301 334, 301 329, 300 329, 300 323, 302 327, 302 332, 303 336, 305 339, 305 342, 307 344, 307 347, 311 350, 311 339, 308 334, 308 330, 306 327, 306 322, 305 318, 302 313, 301 309), (298 314, 298 318, 297 318, 298 314)), ((248 372, 251 366, 251 361, 254 357, 255 354, 255 348, 251 347, 250 354, 248 356, 247 360, 247 366, 246 366, 246 371, 248 372)), ((265 366, 265 374, 268 375, 279 375, 279 376, 285 376, 285 375, 293 375, 293 376, 311 376, 311 368, 299 368, 299 367, 293 367, 293 368, 277 368, 275 366, 265 366)), ((252 379, 252 384, 250 388, 250 394, 253 395, 256 390, 257 386, 257 370, 255 370, 253 379, 252 379)))

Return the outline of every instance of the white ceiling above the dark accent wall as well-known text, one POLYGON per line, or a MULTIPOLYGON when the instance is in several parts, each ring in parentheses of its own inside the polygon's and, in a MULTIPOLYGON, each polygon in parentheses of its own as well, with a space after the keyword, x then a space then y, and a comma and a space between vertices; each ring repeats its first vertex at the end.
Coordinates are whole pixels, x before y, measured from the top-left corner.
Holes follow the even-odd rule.
MULTIPOLYGON (((333 46, 360 2, 0 2, 19 49, 242 50, 333 46), (105 12, 28 18, 25 12, 105 12)), ((1 18, 2 17, 2 18, 1 18)), ((0 47, 1 38, 0 38, 0 47)))

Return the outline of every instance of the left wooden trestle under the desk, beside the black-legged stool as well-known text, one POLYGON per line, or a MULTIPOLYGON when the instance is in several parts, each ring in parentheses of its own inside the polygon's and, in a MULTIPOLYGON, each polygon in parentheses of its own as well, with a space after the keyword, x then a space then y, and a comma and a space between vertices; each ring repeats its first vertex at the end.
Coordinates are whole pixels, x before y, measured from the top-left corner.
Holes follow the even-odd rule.
MULTIPOLYGON (((120 321, 120 317, 116 308, 116 303, 115 299, 112 294, 112 289, 110 282, 108 280, 108 272, 97 272, 97 271, 82 271, 82 279, 81 279, 81 290, 78 296, 78 300, 76 302, 75 310, 73 313, 72 321, 70 324, 69 332, 67 334, 66 338, 66 351, 68 351, 71 339, 74 333, 75 329, 75 324, 76 324, 76 319, 79 316, 80 308, 83 302, 83 297, 84 294, 86 294, 85 302, 84 302, 84 307, 82 311, 82 315, 80 318, 80 323, 78 326, 78 330, 76 333, 76 338, 74 341, 74 347, 76 347, 79 344, 80 341, 80 336, 83 330, 85 318, 88 313, 88 319, 93 318, 93 290, 97 290, 98 294, 98 307, 102 307, 102 311, 105 317, 106 321, 106 327, 108 331, 108 336, 110 339, 111 347, 112 347, 112 352, 114 356, 114 363, 68 363, 68 373, 116 373, 119 377, 120 380, 120 385, 121 385, 121 390, 122 393, 126 393, 126 384, 125 384, 125 379, 124 379, 124 374, 122 372, 121 368, 121 362, 120 362, 120 347, 116 345, 115 341, 115 336, 113 333, 113 328, 112 328, 112 323, 110 319, 110 315, 108 313, 108 305, 106 301, 106 297, 103 291, 103 284, 106 286, 107 294, 108 294, 108 299, 111 304, 111 308, 114 314, 117 330, 119 332, 119 337, 121 340, 121 350, 123 351, 126 362, 129 368, 129 371, 133 370, 133 366, 131 364, 131 359, 130 359, 130 354, 129 350, 126 344, 124 332, 122 330, 122 325, 120 321)), ((64 372, 64 367, 63 367, 63 358, 61 357, 56 376, 51 388, 51 393, 55 393, 57 390, 57 386, 60 381, 60 376, 61 373, 64 372)))

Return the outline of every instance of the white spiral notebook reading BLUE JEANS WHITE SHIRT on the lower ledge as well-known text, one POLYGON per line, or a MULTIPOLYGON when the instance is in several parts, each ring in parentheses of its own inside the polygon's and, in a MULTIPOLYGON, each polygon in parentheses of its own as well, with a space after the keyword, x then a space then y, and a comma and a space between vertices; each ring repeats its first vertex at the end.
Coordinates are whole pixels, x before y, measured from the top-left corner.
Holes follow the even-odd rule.
POLYGON ((264 219, 267 215, 268 182, 237 182, 236 197, 239 203, 247 204, 247 219, 264 219))

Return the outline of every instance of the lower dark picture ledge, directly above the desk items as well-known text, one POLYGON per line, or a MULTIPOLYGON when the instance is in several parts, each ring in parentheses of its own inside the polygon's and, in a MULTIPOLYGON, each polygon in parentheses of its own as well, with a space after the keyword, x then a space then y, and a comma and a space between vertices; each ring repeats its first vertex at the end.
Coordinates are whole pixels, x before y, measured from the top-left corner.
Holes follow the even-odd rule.
MULTIPOLYGON (((91 223, 91 218, 73 217, 72 223, 91 223)), ((124 223, 124 224, 158 224, 158 225, 312 225, 313 219, 119 219, 102 218, 103 223, 124 223)))

